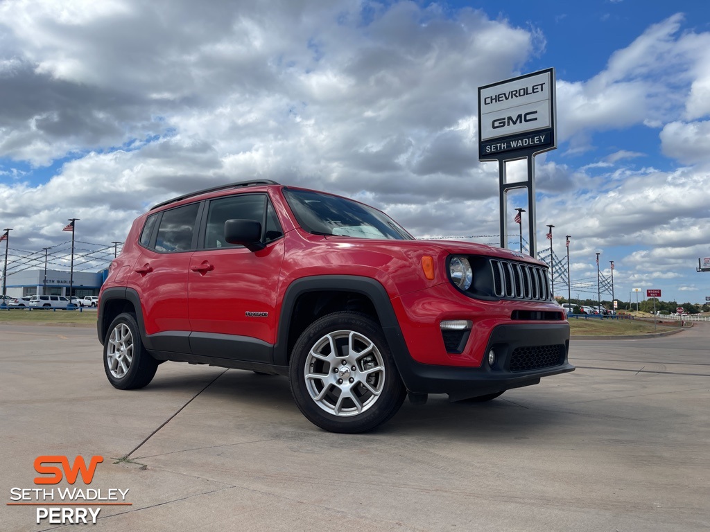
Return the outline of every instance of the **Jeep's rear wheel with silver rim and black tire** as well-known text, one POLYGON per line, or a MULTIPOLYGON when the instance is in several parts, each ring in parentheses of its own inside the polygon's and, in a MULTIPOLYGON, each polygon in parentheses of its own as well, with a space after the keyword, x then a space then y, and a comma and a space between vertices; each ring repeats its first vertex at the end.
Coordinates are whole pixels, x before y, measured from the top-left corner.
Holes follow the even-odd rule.
POLYGON ((104 370, 111 385, 118 389, 146 387, 157 369, 158 361, 143 347, 136 316, 128 312, 116 316, 104 338, 104 370))

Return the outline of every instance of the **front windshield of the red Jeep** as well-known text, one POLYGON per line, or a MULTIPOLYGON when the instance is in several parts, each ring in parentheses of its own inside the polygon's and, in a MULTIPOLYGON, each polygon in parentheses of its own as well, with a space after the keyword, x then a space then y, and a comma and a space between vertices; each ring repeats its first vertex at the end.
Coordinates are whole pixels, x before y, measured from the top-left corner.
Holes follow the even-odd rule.
POLYGON ((283 194, 298 223, 309 233, 413 240, 392 218, 356 201, 311 190, 284 189, 283 194))

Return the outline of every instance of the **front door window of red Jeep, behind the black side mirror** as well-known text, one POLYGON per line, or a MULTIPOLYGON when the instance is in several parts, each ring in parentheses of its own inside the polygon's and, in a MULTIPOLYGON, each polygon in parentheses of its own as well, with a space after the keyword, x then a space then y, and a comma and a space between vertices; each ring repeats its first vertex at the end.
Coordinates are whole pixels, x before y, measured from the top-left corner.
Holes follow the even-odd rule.
POLYGON ((264 206, 266 204, 266 242, 271 242, 281 229, 278 218, 273 211, 273 206, 269 203, 264 194, 239 194, 239 196, 228 196, 214 199, 209 202, 207 211, 207 227, 204 234, 204 247, 212 248, 234 248, 234 244, 224 240, 224 222, 233 218, 243 220, 253 220, 264 226, 264 206), (272 232, 269 238, 269 231, 272 232))

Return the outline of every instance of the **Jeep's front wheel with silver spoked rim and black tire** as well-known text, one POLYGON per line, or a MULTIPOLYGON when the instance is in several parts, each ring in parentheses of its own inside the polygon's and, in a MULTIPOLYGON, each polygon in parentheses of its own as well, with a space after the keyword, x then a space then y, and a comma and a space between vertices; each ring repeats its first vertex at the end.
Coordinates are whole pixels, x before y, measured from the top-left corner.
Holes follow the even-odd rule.
POLYGON ((311 323, 289 366, 298 409, 330 432, 371 431, 397 413, 407 394, 382 328, 358 312, 336 312, 311 323))

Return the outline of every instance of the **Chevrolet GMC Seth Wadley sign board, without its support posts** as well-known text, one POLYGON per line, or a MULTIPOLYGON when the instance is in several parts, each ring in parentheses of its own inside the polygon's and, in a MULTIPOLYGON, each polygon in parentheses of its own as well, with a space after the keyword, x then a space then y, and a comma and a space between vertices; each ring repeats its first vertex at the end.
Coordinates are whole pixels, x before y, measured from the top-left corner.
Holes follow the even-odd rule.
POLYGON ((479 87, 479 159, 555 147, 553 69, 479 87))

